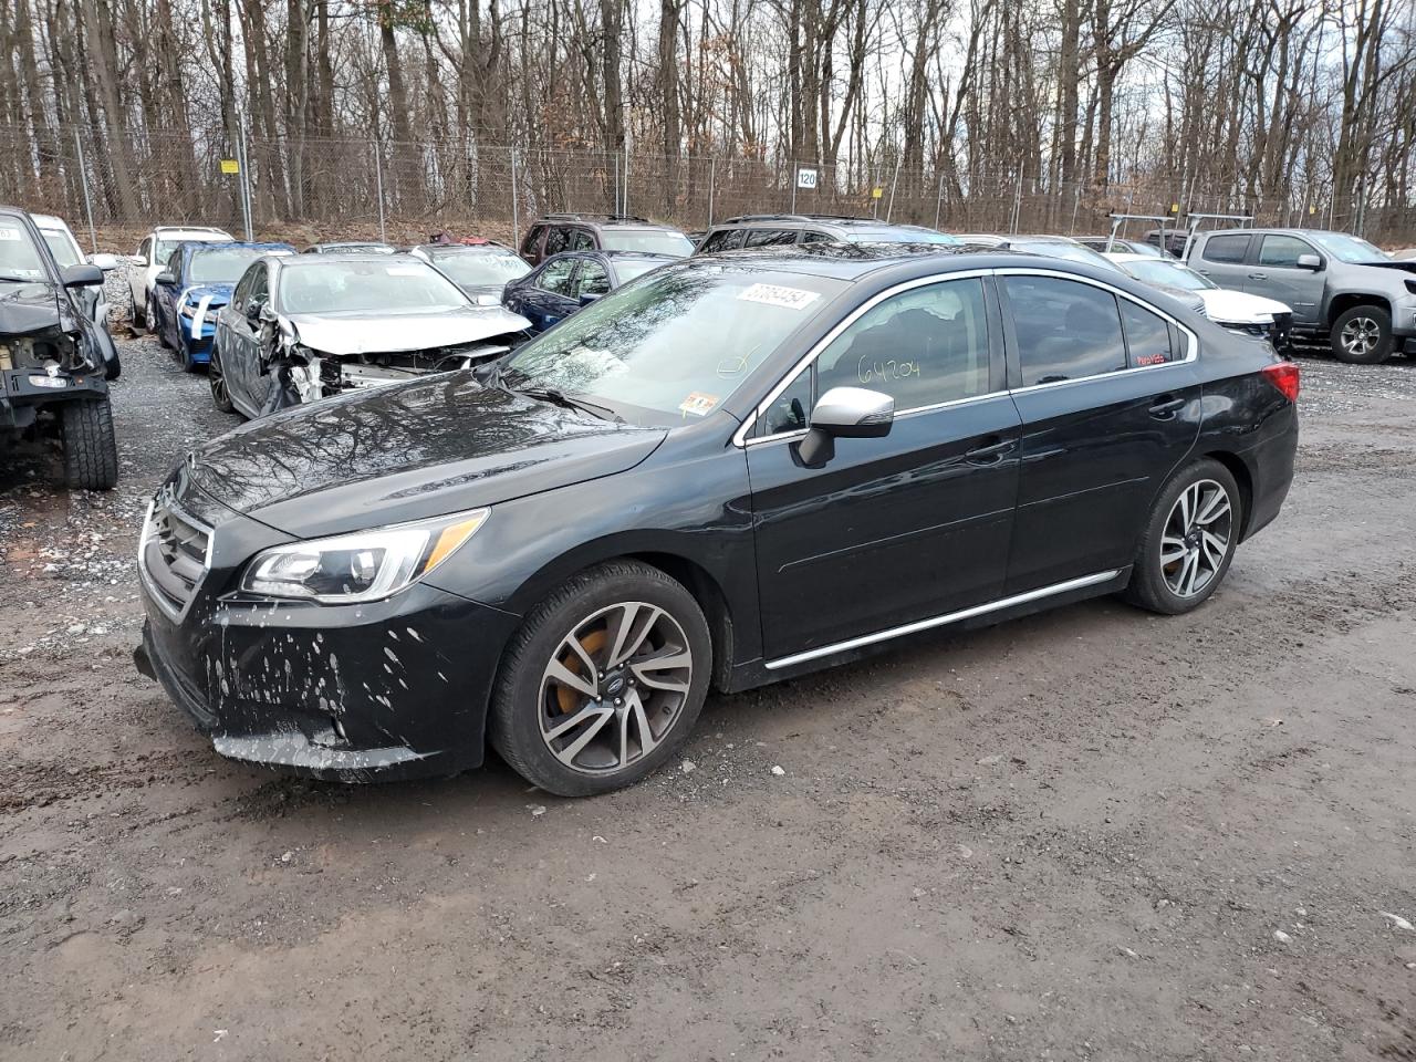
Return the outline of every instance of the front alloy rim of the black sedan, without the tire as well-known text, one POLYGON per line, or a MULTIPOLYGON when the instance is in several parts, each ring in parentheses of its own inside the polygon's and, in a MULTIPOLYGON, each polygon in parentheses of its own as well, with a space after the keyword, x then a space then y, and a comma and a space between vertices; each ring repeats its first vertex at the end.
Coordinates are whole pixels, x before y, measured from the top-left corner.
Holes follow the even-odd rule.
POLYGON ((583 775, 633 766, 678 722, 692 668, 688 637, 663 607, 600 609, 575 624, 541 674, 541 739, 583 775))

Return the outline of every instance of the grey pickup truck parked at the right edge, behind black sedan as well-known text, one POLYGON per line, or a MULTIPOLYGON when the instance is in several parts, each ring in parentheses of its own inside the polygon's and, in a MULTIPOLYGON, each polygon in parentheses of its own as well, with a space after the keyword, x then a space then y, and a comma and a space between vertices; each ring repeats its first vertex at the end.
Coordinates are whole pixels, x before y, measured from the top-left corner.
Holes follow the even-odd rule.
POLYGON ((1416 262, 1395 262, 1347 232, 1303 228, 1201 232, 1188 263, 1221 287, 1293 307, 1293 329, 1340 361, 1375 365, 1416 354, 1416 262))

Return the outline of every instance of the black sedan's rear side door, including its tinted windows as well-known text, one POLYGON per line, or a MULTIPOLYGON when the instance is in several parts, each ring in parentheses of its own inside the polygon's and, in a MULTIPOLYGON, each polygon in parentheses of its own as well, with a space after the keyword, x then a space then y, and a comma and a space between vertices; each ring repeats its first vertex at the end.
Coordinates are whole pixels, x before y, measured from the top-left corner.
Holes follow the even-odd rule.
POLYGON ((1022 473, 1007 593, 1131 562, 1150 506, 1199 432, 1195 340, 1100 282, 1004 270, 1022 473))

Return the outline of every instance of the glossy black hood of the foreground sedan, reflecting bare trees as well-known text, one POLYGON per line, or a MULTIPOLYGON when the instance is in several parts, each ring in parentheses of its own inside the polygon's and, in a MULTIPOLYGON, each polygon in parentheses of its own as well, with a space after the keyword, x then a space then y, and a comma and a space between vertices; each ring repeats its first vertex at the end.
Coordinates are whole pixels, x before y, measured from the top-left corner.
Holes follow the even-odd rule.
POLYGON ((253 421, 188 463, 222 504, 310 538, 609 476, 664 435, 447 372, 253 421))

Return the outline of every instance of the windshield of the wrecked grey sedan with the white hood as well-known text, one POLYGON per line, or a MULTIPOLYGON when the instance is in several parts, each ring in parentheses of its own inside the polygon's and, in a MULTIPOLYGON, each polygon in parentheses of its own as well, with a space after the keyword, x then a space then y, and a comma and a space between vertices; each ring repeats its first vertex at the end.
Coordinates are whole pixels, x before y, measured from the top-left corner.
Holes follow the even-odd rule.
POLYGON ((282 270, 282 313, 462 310, 467 296, 416 258, 351 262, 313 258, 282 270))

